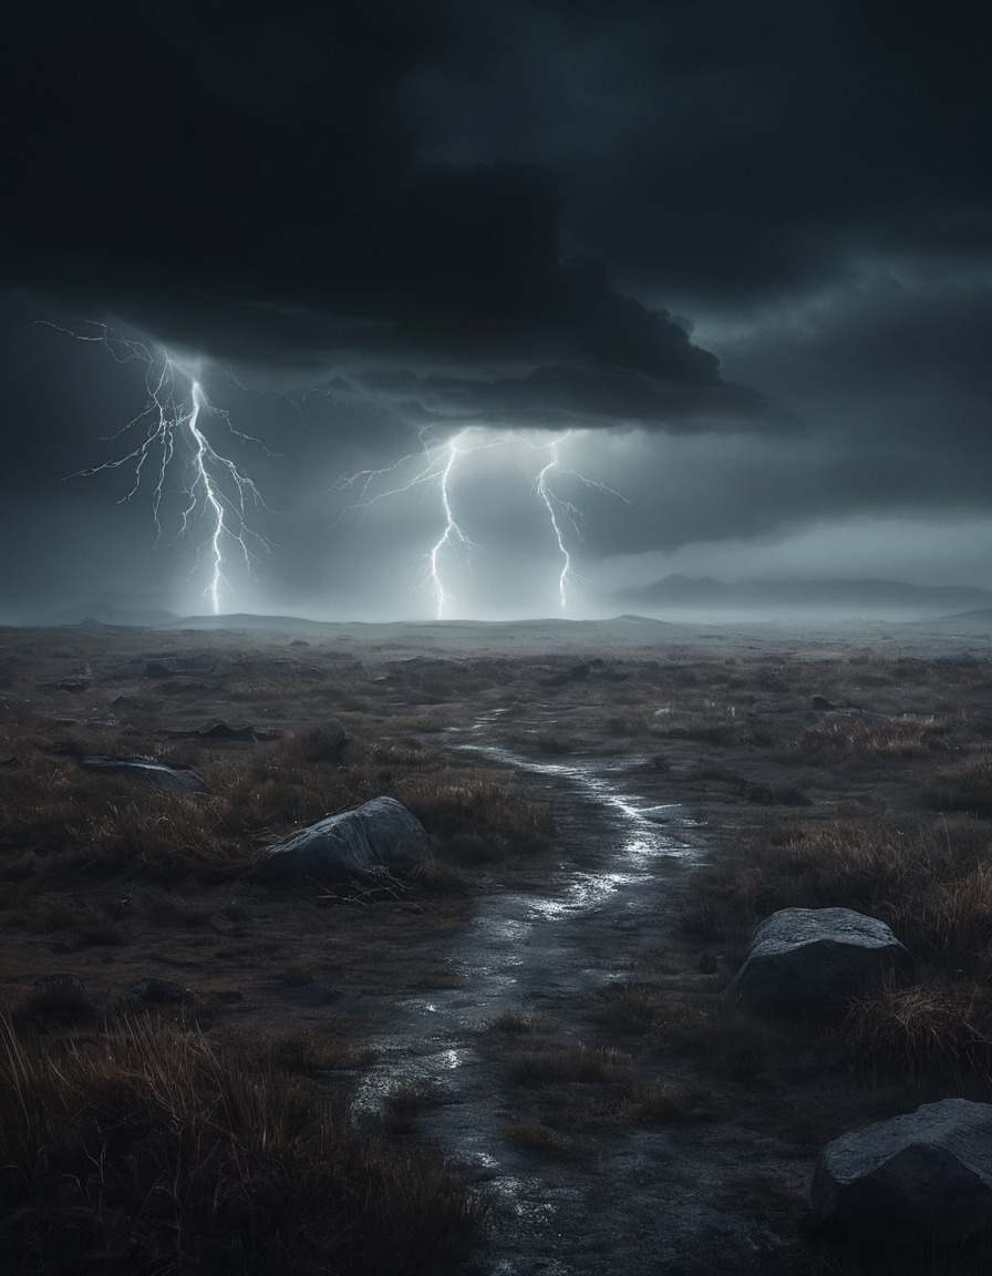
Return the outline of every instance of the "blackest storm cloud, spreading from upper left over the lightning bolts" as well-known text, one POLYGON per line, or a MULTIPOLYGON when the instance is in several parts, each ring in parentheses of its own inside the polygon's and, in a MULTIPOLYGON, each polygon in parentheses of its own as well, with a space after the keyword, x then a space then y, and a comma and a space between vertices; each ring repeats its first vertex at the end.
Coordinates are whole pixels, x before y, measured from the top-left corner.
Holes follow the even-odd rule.
POLYGON ((8 276, 241 360, 458 364, 462 399, 474 384, 474 413, 502 399, 505 421, 571 419, 585 387, 587 424, 709 425, 717 410, 760 427, 756 397, 724 387, 663 309, 621 296, 602 262, 562 256, 552 165, 417 160, 400 89, 472 65, 459 13, 19 10, 8 276))

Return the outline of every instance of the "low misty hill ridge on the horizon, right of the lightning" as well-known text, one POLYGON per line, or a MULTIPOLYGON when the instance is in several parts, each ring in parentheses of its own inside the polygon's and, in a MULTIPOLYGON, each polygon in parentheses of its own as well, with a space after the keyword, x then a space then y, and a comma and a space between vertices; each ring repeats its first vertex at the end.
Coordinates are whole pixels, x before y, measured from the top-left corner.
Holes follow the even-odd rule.
POLYGON ((667 611, 815 612, 838 616, 942 616, 992 606, 992 592, 972 586, 909 584, 885 579, 738 581, 667 575, 616 591, 611 601, 649 614, 667 611))

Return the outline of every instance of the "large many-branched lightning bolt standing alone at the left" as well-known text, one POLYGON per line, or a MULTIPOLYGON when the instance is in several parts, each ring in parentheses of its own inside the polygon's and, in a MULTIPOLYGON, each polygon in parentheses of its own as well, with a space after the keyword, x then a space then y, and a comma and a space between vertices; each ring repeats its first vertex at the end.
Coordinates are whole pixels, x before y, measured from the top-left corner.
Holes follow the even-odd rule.
POLYGON ((124 440, 126 452, 101 464, 78 470, 68 478, 91 477, 103 471, 130 468, 133 482, 119 504, 131 500, 147 477, 152 482, 152 519, 156 527, 153 549, 163 536, 162 505, 170 473, 180 470, 180 489, 185 504, 179 513, 177 530, 171 544, 191 535, 194 524, 204 522, 208 533, 196 550, 196 572, 204 555, 208 559, 208 583, 201 597, 208 598, 214 615, 221 612, 221 596, 230 587, 226 561, 230 553, 244 560, 254 577, 255 550, 270 553, 270 542, 249 526, 250 510, 268 508, 249 475, 230 457, 217 452, 201 425, 205 417, 221 421, 226 431, 241 444, 255 444, 272 452, 251 435, 236 430, 223 408, 214 407, 198 373, 175 357, 163 346, 149 347, 143 341, 124 337, 106 324, 93 324, 96 333, 78 333, 55 323, 37 320, 46 328, 65 333, 75 341, 102 346, 117 364, 138 361, 144 365, 148 399, 108 441, 124 440))

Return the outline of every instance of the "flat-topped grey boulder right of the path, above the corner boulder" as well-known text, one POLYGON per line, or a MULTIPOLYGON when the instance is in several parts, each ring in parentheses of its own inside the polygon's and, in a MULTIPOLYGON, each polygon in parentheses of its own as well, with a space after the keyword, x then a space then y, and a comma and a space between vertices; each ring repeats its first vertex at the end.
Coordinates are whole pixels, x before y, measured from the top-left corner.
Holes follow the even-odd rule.
POLYGON ((876 917, 850 909, 782 909, 755 931, 731 993, 769 1009, 822 1009, 864 993, 904 956, 876 917))

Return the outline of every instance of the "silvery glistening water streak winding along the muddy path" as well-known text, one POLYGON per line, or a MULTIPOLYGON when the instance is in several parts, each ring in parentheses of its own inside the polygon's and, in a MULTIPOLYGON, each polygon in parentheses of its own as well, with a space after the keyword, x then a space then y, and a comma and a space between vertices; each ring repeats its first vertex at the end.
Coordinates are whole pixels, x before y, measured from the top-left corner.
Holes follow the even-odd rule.
POLYGON ((492 883, 479 893, 442 954, 456 986, 393 1004, 389 1026, 370 1039, 377 1062, 353 1106, 357 1116, 372 1115, 398 1087, 418 1091, 425 1133, 469 1166, 499 1206, 488 1271, 514 1276, 532 1270, 536 1254, 560 1249, 561 1228, 583 1211, 580 1175, 557 1165, 539 1176, 504 1142, 511 1115, 500 1064, 487 1058, 487 1022, 506 1011, 553 1018, 562 999, 590 1000, 662 951, 664 898, 697 857, 699 835, 677 804, 649 805, 620 787, 630 757, 542 760, 482 743, 488 725, 454 746, 529 776, 543 792, 556 822, 551 870, 539 891, 492 883))

